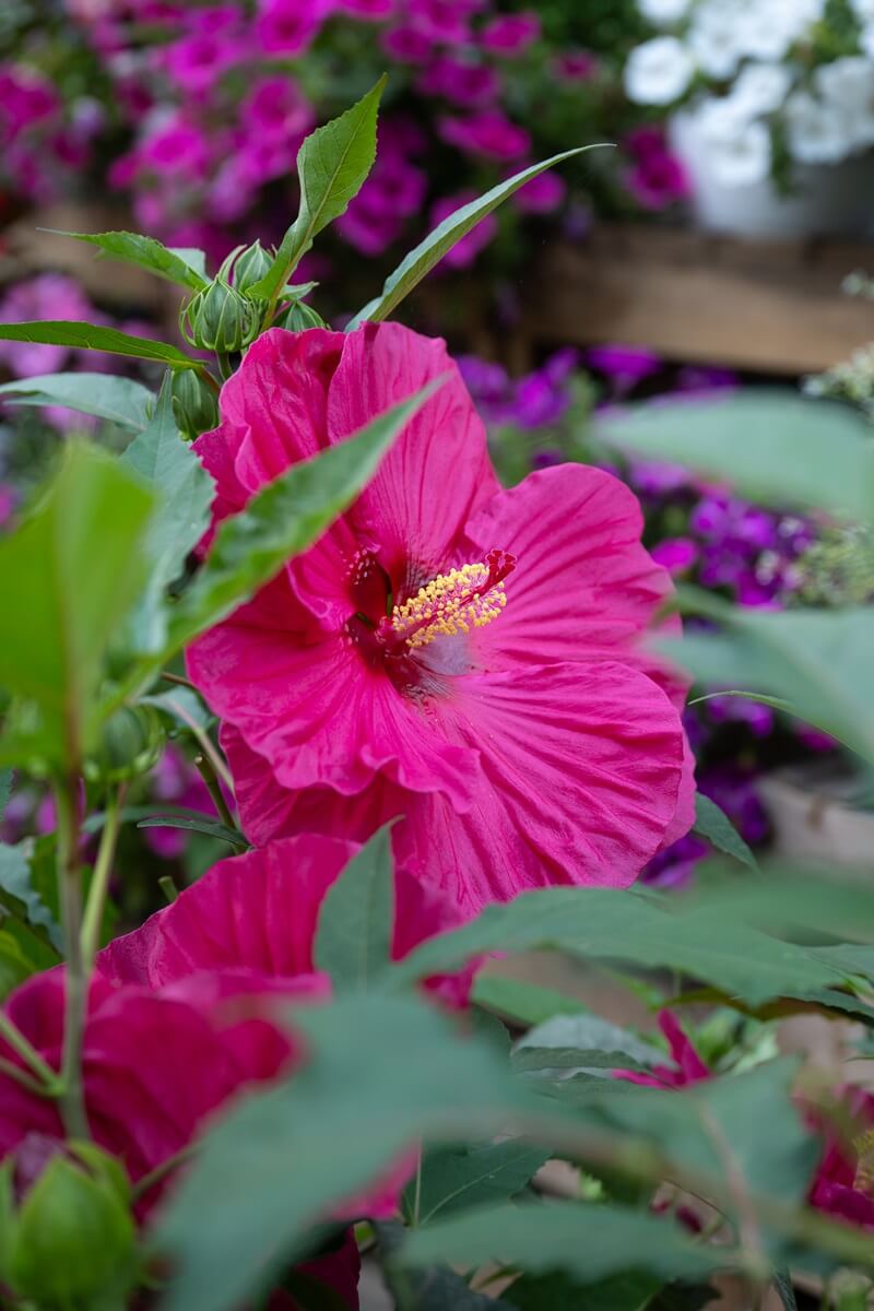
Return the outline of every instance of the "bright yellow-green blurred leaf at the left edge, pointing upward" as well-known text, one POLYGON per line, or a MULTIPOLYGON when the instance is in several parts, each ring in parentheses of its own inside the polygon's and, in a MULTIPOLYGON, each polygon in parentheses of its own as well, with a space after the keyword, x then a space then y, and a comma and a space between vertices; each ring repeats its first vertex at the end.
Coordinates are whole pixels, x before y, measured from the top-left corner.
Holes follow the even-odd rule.
POLYGON ((75 763, 89 737, 89 701, 136 595, 152 505, 118 460, 73 443, 37 507, 0 541, 0 686, 35 703, 54 763, 75 763))

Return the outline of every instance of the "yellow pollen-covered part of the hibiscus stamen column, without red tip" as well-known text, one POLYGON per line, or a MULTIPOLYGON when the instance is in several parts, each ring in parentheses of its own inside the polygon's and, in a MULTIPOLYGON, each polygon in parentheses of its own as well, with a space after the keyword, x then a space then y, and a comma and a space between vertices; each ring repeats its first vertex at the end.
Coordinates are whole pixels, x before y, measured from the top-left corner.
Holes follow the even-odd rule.
POLYGON ((447 574, 438 574, 419 587, 402 606, 392 611, 392 628, 405 637, 410 648, 427 646, 435 637, 455 637, 472 628, 482 628, 497 619, 507 604, 503 582, 487 593, 489 568, 484 564, 463 565, 447 574))

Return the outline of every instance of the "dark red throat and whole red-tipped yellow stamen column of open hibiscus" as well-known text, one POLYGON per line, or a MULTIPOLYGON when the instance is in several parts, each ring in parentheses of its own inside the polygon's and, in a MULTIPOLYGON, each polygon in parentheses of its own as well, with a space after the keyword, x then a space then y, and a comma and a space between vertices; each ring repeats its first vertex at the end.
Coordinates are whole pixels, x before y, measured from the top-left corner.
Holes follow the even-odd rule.
POLYGON ((408 657, 439 637, 482 628, 507 604, 504 579, 515 566, 516 557, 508 551, 490 551, 485 560, 436 574, 415 594, 392 604, 385 572, 373 557, 360 558, 354 569, 352 591, 367 606, 347 621, 347 636, 368 656, 385 658, 408 657), (379 619, 377 594, 383 611, 379 619))

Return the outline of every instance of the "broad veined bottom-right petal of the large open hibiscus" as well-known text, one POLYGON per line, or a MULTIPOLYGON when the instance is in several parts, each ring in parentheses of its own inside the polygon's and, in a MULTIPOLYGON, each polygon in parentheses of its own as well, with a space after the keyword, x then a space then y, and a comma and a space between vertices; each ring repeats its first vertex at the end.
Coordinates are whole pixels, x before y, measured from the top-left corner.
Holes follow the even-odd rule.
POLYGON ((396 851, 466 910, 553 884, 622 888, 658 850, 683 735, 646 675, 605 661, 472 675, 440 721, 480 747, 473 806, 417 797, 396 851))

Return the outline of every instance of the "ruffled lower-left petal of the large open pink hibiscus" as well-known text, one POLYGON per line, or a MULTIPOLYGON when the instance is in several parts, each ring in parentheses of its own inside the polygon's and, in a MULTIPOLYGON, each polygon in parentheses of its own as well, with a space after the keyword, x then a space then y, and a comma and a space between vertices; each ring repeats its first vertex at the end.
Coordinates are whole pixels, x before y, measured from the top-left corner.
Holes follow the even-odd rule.
MULTIPOLYGON (((274 585, 276 594, 278 585, 274 585)), ((342 636, 321 641, 265 624, 263 594, 187 652, 193 682, 283 788, 324 785, 345 796, 383 771, 400 787, 468 804, 477 771, 469 747, 447 743, 423 709, 342 636), (254 604, 254 603, 253 603, 254 604)))

